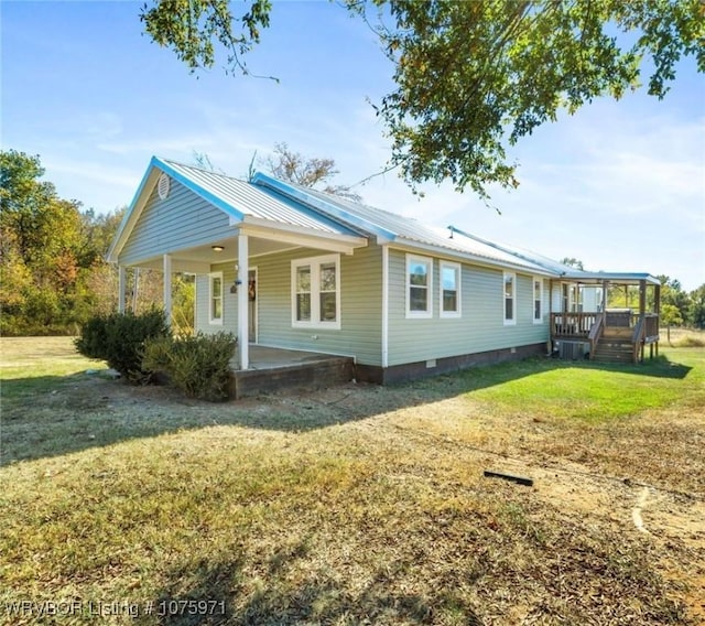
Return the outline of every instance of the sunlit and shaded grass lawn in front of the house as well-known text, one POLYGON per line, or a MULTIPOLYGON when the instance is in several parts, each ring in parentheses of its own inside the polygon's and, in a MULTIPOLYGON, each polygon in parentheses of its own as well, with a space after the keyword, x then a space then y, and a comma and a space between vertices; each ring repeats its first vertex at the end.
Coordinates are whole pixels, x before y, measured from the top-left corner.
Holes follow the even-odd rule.
POLYGON ((0 623, 702 617, 705 350, 214 406, 69 353, 18 365, 28 344, 2 342, 0 623), (637 484, 651 535, 631 522, 637 484), (35 604, 10 615, 20 601, 35 604))

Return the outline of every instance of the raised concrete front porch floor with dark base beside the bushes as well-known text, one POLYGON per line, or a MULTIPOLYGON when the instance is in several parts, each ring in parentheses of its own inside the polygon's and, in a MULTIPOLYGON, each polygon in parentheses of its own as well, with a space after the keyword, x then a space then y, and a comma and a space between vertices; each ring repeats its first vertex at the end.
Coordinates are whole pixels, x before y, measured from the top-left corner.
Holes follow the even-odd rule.
POLYGON ((352 357, 250 345, 250 367, 230 361, 230 398, 288 390, 313 390, 352 380, 352 357))

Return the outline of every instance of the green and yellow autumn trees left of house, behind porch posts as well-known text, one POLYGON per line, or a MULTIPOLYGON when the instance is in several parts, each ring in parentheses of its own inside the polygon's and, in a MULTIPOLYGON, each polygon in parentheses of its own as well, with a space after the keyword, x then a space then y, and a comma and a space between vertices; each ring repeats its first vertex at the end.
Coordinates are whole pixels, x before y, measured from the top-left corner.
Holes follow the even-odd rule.
MULTIPOLYGON (((96 313, 118 305, 118 271, 105 253, 124 208, 97 215, 63 199, 41 181, 39 156, 0 152, 0 333, 75 335, 96 313)), ((162 274, 131 270, 128 305, 135 312, 162 300, 162 274)), ((174 319, 193 326, 194 284, 175 277, 174 319)))

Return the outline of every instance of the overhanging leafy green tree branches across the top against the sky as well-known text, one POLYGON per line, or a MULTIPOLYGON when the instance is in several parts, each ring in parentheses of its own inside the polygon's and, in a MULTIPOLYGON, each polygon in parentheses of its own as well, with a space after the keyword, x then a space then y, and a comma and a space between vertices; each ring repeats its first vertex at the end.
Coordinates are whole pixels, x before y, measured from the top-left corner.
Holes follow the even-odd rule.
MULTIPOLYGON (((345 4, 373 28, 395 65, 397 88, 376 108, 392 140, 389 166, 414 190, 449 180, 488 197, 491 184, 516 187, 508 148, 560 111, 620 98, 639 86, 644 66, 653 68, 648 88, 658 98, 682 56, 694 56, 705 72, 701 0, 345 4)), ((192 72, 214 65, 216 41, 228 51, 229 71, 248 74, 241 57, 259 43, 271 10, 269 0, 251 0, 239 34, 227 0, 151 0, 141 19, 192 72)))

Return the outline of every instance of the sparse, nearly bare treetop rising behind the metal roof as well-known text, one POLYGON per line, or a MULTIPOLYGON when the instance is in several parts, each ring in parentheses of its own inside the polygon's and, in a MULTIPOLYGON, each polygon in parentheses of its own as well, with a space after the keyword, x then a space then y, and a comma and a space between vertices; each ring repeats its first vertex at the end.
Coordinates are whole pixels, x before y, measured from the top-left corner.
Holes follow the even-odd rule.
POLYGON ((340 197, 359 202, 361 197, 350 191, 347 185, 334 185, 330 183, 336 174, 333 159, 307 159, 299 152, 294 152, 285 142, 274 144, 274 155, 268 156, 263 164, 269 171, 282 181, 296 183, 304 187, 322 187, 321 191, 340 197))

